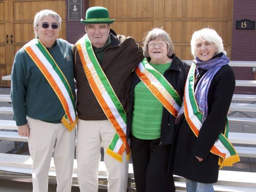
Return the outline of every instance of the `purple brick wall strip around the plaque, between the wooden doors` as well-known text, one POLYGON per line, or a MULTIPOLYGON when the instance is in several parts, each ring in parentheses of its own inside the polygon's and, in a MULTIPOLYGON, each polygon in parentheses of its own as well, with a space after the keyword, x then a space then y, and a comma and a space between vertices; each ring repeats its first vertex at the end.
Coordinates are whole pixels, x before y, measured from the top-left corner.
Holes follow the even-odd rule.
MULTIPOLYGON (((66 0, 66 39, 69 43, 75 44, 84 34, 84 24, 80 21, 68 20, 68 0, 66 0)), ((89 8, 89 0, 82 0, 82 19, 89 8)))

